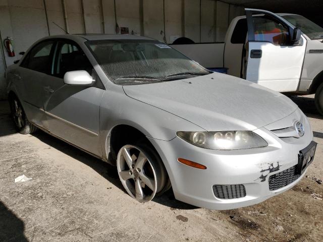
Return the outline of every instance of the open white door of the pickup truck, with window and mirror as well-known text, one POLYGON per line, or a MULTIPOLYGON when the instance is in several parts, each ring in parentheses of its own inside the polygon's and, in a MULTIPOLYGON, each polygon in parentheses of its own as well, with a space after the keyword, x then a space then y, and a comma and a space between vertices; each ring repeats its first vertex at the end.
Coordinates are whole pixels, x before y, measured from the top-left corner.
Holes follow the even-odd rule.
POLYGON ((268 11, 246 9, 248 25, 246 79, 279 92, 296 91, 306 39, 294 44, 293 27, 268 11))

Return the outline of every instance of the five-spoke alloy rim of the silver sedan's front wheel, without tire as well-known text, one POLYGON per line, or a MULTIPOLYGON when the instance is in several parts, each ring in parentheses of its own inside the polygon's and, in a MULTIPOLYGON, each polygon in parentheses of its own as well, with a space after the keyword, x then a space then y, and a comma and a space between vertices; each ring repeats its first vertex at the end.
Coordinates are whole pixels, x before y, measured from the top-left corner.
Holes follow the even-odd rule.
POLYGON ((155 196, 156 171, 141 149, 123 146, 118 153, 117 168, 121 183, 131 197, 145 203, 155 196))

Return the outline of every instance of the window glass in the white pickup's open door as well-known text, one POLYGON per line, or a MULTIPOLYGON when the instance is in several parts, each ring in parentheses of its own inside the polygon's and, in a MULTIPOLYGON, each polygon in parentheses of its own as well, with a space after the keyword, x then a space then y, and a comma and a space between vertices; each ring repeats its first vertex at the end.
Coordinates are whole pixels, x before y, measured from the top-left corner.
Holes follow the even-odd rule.
POLYGON ((276 45, 286 45, 289 41, 288 27, 270 15, 253 16, 254 40, 276 45))

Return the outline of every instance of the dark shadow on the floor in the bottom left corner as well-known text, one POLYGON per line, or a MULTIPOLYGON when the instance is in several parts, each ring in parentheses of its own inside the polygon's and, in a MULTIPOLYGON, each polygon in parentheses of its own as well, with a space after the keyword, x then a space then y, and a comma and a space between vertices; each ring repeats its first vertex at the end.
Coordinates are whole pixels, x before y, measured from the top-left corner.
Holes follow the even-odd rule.
POLYGON ((28 241, 24 230, 24 222, 0 201, 0 241, 28 241))

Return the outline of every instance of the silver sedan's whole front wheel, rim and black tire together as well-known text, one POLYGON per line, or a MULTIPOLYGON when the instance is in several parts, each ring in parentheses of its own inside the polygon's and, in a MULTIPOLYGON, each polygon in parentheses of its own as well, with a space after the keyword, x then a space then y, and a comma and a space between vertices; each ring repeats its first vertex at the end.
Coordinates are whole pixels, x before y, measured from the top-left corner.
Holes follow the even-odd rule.
POLYGON ((138 202, 149 202, 169 188, 161 159, 144 143, 123 146, 118 153, 117 169, 123 187, 138 202))

